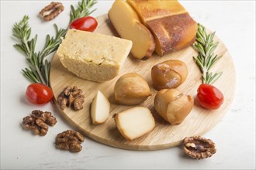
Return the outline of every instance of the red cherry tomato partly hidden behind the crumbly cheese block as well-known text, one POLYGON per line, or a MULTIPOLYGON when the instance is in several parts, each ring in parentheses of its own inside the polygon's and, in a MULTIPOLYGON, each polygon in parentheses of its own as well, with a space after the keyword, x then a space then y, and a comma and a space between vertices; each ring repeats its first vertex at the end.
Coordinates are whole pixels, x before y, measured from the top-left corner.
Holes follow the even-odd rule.
POLYGON ((71 22, 70 29, 79 29, 82 31, 94 32, 96 27, 98 26, 98 22, 92 16, 85 16, 79 19, 75 19, 71 22))

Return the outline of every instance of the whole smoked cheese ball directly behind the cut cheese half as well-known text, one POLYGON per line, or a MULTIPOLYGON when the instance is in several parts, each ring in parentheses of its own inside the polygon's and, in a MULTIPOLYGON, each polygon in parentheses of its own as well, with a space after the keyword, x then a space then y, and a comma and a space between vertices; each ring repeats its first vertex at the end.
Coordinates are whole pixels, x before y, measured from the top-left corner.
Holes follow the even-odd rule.
POLYGON ((116 81, 114 93, 116 101, 126 105, 140 104, 151 95, 147 81, 137 73, 126 73, 121 76, 116 81))

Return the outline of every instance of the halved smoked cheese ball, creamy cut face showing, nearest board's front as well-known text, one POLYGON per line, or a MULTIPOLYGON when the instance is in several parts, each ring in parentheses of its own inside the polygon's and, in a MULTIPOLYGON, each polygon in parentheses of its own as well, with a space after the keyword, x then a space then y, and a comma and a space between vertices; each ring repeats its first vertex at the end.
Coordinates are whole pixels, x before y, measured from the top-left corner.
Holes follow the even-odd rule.
POLYGON ((132 141, 152 131, 154 117, 147 107, 133 107, 116 114, 116 127, 127 141, 132 141))

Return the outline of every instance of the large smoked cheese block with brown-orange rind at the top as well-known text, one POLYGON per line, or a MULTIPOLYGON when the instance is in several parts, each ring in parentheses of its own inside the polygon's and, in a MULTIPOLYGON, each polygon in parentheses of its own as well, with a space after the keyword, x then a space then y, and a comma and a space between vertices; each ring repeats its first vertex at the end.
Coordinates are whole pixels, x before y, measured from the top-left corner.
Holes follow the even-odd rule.
POLYGON ((197 23, 175 0, 127 0, 153 33, 159 56, 184 49, 195 42, 197 23))

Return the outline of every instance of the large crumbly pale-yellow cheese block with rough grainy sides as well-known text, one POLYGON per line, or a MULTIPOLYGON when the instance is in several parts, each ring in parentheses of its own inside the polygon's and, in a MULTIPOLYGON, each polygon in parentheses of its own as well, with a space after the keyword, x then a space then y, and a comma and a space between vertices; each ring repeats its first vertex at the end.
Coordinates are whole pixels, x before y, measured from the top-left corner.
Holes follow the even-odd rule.
POLYGON ((114 36, 69 29, 57 56, 71 73, 85 80, 103 82, 118 75, 132 44, 114 36))

